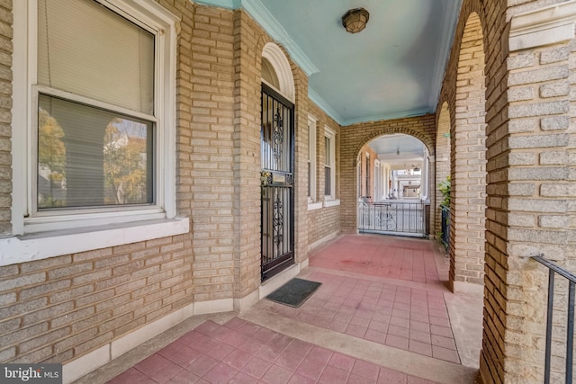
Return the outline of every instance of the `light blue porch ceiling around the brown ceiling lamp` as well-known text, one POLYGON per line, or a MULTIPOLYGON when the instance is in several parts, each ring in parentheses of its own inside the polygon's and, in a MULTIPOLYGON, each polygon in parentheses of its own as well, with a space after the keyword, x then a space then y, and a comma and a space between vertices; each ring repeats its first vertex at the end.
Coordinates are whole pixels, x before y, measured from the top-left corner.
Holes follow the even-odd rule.
POLYGON ((434 112, 462 0, 203 0, 243 7, 310 76, 341 125, 434 112), (364 31, 341 17, 364 7, 364 31))

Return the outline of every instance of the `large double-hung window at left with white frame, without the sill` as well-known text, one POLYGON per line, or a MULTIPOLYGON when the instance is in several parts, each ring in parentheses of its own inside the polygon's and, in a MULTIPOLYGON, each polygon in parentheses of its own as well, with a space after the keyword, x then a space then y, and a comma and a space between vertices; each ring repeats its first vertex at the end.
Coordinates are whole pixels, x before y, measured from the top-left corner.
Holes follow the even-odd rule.
POLYGON ((175 16, 149 0, 16 3, 14 234, 174 218, 175 16))

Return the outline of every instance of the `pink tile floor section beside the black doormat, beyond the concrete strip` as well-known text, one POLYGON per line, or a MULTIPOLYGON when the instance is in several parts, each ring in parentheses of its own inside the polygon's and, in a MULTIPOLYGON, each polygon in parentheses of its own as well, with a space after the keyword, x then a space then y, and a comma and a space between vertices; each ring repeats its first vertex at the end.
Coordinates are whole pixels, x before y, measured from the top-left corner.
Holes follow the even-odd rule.
POLYGON ((258 308, 304 323, 459 363, 442 292, 312 272, 322 285, 300 308, 269 300, 258 308))

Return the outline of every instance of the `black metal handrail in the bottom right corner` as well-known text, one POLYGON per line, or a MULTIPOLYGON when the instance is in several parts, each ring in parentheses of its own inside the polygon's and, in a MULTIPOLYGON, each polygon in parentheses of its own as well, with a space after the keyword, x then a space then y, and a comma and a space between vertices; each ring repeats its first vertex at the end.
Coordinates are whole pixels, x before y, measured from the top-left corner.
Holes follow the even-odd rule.
POLYGON ((562 267, 546 260, 544 255, 532 256, 538 263, 548 267, 548 309, 546 314, 546 355, 545 355, 545 384, 550 383, 550 367, 552 362, 552 327, 554 312, 554 276, 559 274, 568 281, 568 319, 566 320, 566 383, 572 383, 572 351, 574 346, 574 289, 576 275, 564 270, 562 267))

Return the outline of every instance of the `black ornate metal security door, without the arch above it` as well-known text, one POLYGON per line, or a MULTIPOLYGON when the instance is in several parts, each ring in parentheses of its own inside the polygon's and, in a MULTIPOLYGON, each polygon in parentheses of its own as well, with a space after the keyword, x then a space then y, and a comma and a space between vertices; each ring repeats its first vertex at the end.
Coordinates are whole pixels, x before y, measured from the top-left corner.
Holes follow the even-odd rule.
POLYGON ((262 85, 262 280, 294 263, 294 115, 290 103, 262 85))

